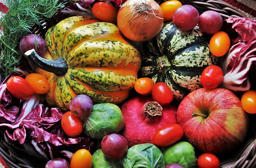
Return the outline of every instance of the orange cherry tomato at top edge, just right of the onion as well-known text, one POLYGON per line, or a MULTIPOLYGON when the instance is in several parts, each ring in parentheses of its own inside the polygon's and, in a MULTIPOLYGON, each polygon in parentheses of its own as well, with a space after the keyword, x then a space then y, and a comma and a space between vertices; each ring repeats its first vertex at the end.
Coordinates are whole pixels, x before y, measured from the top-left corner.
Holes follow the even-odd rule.
POLYGON ((174 12, 181 6, 182 4, 180 3, 180 1, 176 0, 165 1, 164 3, 160 4, 160 7, 164 14, 164 21, 171 21, 174 12))

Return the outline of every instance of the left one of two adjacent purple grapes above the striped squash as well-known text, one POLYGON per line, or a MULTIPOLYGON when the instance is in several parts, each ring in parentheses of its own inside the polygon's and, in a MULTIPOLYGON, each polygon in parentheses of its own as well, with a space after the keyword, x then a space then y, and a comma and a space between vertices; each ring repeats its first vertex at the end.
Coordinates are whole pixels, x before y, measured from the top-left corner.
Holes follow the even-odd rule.
POLYGON ((172 21, 181 31, 189 31, 198 24, 199 13, 191 5, 182 5, 174 12, 172 21))

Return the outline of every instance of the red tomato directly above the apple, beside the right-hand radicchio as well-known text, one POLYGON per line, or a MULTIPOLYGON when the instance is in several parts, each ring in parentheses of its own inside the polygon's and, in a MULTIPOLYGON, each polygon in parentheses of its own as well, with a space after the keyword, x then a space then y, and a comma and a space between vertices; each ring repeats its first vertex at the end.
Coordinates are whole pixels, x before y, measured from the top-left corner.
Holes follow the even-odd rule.
POLYGON ((223 79, 222 69, 217 65, 210 65, 203 70, 200 80, 204 88, 214 89, 222 83, 223 79))

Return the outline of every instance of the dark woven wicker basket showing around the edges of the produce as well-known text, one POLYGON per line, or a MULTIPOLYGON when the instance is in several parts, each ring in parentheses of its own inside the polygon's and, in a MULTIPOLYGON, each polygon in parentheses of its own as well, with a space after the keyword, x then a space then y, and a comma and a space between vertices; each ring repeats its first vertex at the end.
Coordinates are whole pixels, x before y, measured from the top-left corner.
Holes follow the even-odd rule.
MULTIPOLYGON (((223 19, 229 17, 247 17, 242 11, 233 7, 232 5, 222 1, 222 0, 182 0, 182 4, 193 5, 198 9, 199 13, 207 10, 213 10, 221 14, 223 19)), ((46 23, 43 24, 46 28, 46 23)), ((39 29, 34 28, 33 33, 41 34, 39 29)), ((1 83, 1 72, 0 72, 0 83, 1 83)), ((254 129, 256 130, 256 122, 254 124, 254 129)), ((36 163, 28 160, 24 156, 20 156, 20 152, 15 152, 8 143, 3 139, 3 130, 0 130, 0 155, 2 156, 5 163, 8 164, 10 168, 33 168, 37 167, 36 163)), ((240 153, 234 158, 225 160, 221 162, 221 167, 256 167, 256 135, 252 136, 242 147, 240 153)))

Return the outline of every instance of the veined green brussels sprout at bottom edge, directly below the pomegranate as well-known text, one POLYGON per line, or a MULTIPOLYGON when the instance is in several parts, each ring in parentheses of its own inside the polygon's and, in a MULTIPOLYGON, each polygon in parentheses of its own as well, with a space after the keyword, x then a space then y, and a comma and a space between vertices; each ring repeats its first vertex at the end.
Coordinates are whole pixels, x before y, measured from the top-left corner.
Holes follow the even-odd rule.
POLYGON ((164 156, 153 144, 139 144, 129 148, 123 158, 124 168, 164 168, 164 156))

